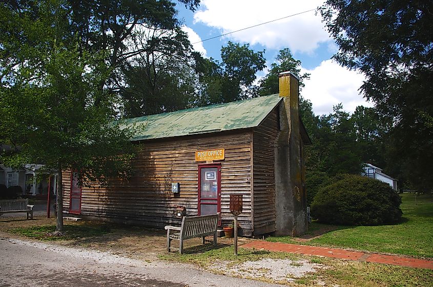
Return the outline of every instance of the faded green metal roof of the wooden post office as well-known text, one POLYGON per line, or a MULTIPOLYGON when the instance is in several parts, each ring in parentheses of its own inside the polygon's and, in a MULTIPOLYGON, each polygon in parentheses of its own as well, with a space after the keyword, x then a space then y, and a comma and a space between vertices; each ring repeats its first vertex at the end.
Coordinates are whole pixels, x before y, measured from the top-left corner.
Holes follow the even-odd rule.
POLYGON ((214 133, 258 126, 282 100, 278 94, 226 104, 182 109, 132 118, 125 125, 143 125, 132 141, 214 133))

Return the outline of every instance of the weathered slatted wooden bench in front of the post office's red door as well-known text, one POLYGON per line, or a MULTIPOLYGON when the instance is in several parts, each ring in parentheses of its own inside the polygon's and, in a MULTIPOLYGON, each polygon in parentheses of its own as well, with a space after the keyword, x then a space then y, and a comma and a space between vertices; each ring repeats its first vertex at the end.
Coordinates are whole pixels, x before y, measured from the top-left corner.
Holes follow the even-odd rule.
POLYGON ((204 236, 214 235, 214 246, 217 241, 217 225, 218 225, 218 214, 202 215, 202 216, 191 216, 183 217, 182 225, 180 227, 166 226, 167 230, 167 251, 170 252, 170 248, 179 250, 182 254, 183 251, 183 240, 194 237, 201 237, 201 244, 204 244, 204 236), (179 240, 179 248, 170 247, 171 240, 179 240))

